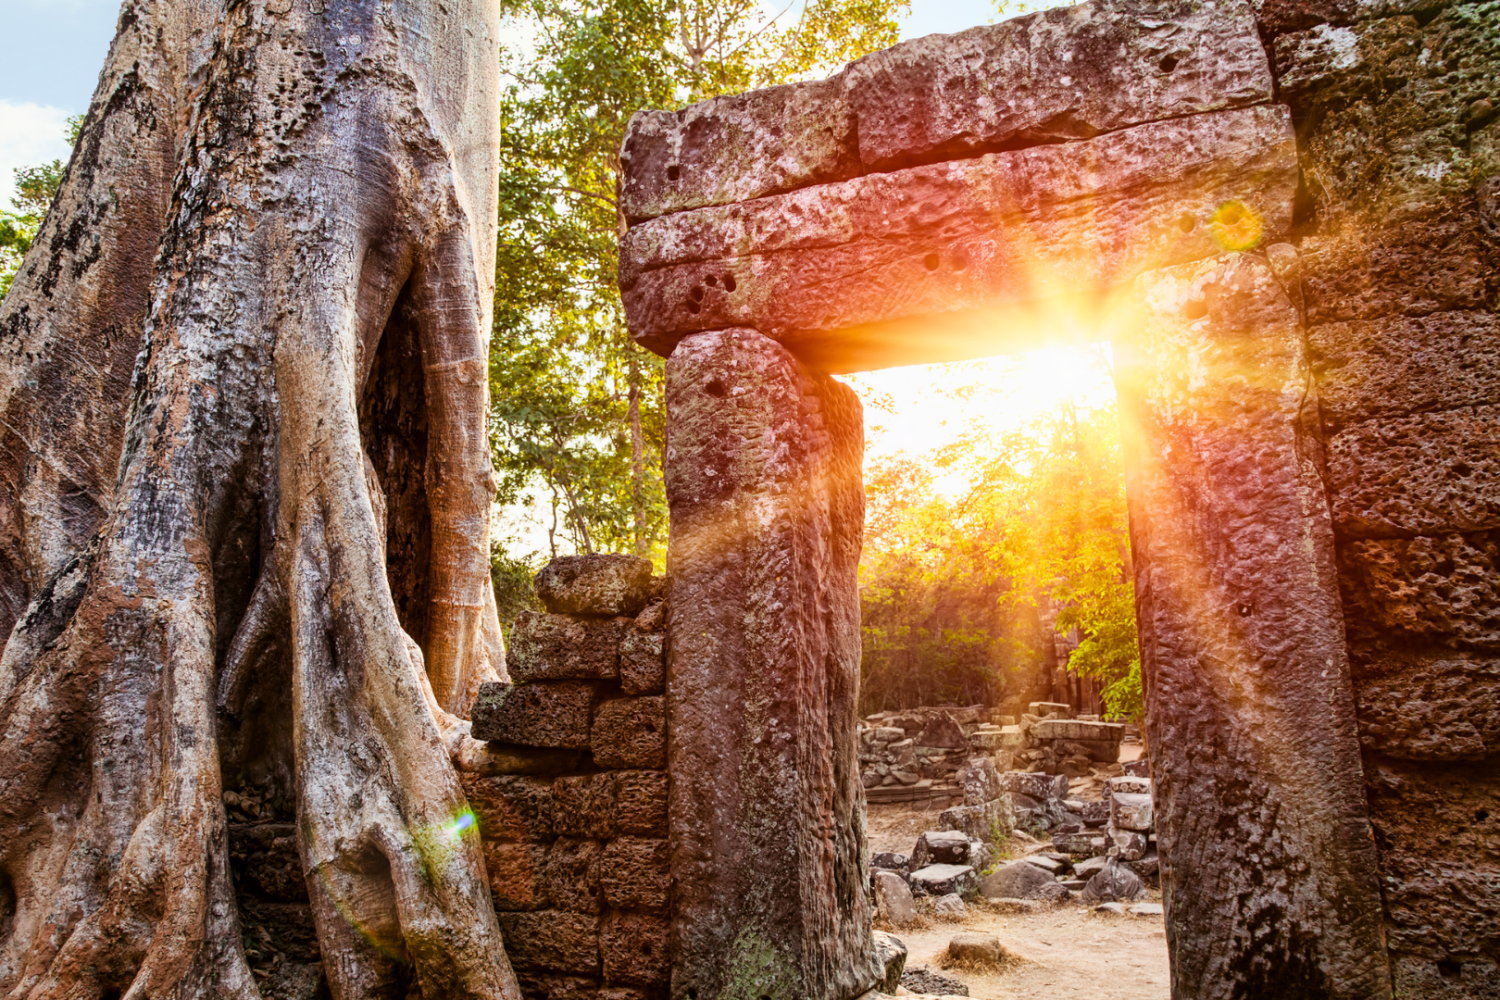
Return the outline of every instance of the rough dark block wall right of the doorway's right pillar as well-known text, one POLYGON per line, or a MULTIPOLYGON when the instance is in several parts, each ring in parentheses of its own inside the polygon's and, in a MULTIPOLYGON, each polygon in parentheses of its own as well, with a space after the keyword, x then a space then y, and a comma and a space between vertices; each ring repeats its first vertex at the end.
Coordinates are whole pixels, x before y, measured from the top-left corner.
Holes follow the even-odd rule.
POLYGON ((1500 4, 1268 1, 1401 997, 1500 996, 1500 4))

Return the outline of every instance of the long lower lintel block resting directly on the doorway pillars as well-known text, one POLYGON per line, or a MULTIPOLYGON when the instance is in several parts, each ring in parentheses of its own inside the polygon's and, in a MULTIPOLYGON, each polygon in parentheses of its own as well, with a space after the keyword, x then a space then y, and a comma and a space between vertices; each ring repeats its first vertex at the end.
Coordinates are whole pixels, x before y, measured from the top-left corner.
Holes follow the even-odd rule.
POLYGON ((620 282, 660 354, 742 325, 830 370, 974 357, 1018 346, 976 310, 1216 253, 1226 202, 1284 232, 1296 180, 1284 108, 1220 111, 664 216, 626 234, 620 282))

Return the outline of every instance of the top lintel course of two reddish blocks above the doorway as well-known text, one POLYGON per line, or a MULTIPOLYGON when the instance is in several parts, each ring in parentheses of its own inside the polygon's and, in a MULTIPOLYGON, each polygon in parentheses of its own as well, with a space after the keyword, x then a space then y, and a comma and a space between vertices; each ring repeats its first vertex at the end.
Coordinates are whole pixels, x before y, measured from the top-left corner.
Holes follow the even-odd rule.
POLYGON ((903 42, 828 79, 640 111, 621 199, 634 223, 1270 96, 1248 3, 1090 0, 903 42))

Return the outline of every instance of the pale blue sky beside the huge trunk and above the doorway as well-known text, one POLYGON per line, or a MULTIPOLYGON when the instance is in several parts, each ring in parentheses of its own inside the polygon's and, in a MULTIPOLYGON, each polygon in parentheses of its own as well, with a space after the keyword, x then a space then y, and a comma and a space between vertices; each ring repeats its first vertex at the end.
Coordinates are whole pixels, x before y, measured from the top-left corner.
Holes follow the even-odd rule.
MULTIPOLYGON (((0 207, 10 207, 16 166, 68 156, 64 121, 88 106, 118 9, 118 0, 0 0, 0 207)), ((958 31, 994 10, 993 0, 912 0, 902 34, 958 31)))

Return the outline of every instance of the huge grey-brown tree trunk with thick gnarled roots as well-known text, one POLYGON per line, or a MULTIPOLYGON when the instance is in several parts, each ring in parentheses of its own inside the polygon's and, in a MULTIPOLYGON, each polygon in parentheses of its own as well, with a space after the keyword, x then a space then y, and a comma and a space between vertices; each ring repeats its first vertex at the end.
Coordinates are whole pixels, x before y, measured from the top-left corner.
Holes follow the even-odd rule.
POLYGON ((126 0, 0 306, 0 991, 258 996, 254 781, 334 997, 519 997, 450 763, 504 673, 496 19, 126 0))

